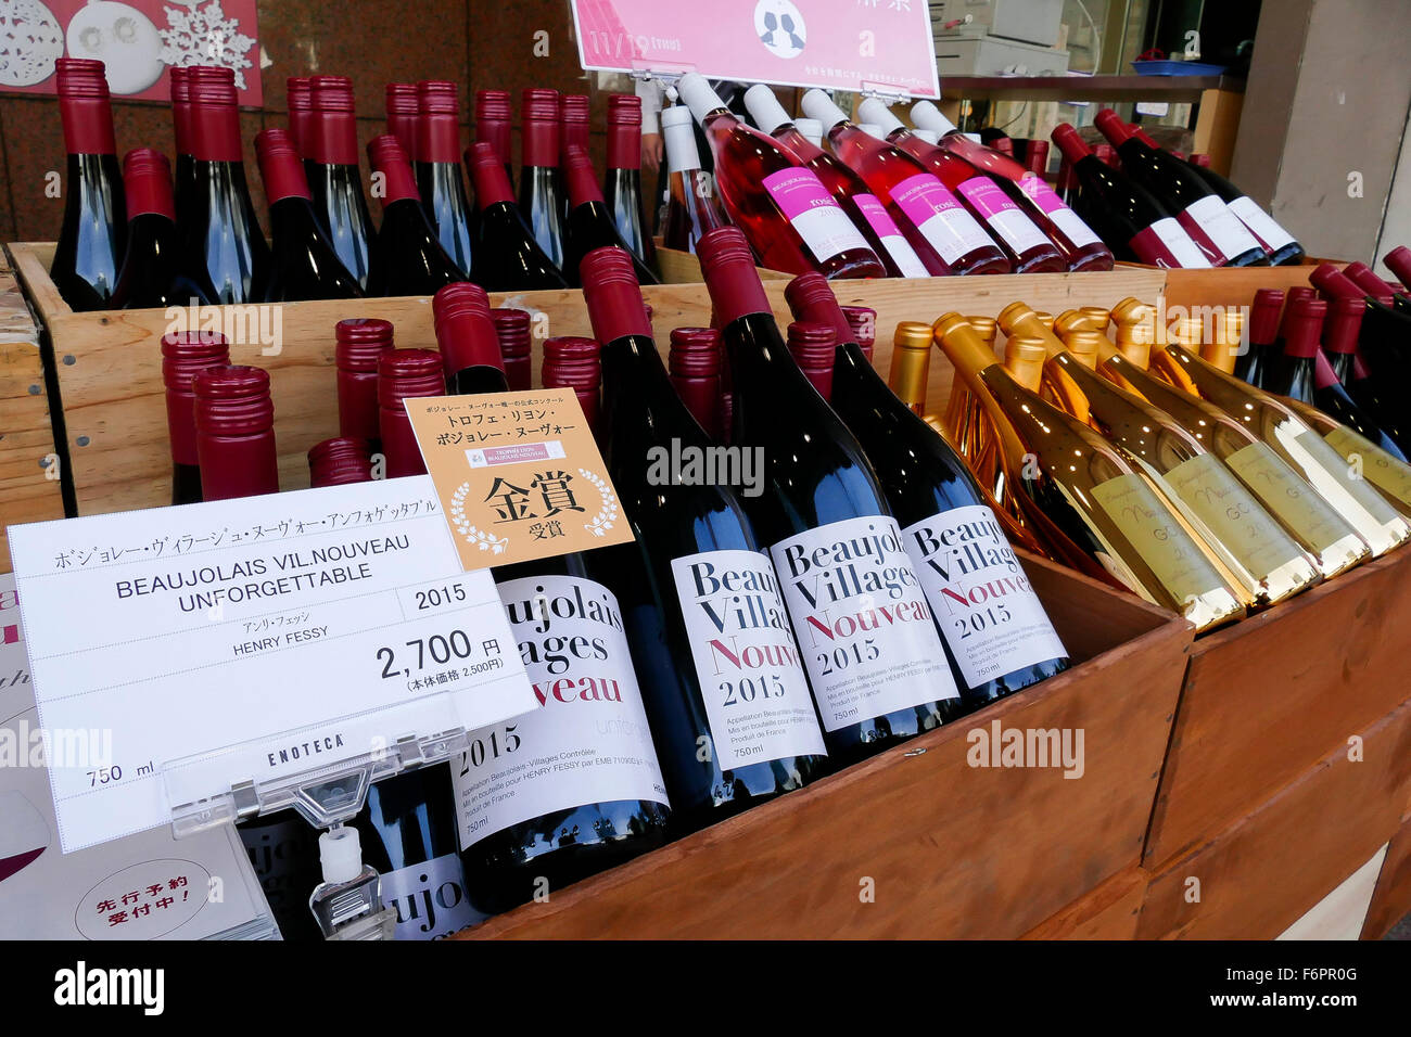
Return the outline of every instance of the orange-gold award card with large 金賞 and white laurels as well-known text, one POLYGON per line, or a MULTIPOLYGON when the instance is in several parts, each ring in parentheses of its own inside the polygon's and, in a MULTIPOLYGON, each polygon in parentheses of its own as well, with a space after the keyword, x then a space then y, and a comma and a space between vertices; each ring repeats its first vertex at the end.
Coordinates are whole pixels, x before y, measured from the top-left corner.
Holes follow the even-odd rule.
POLYGON ((405 402, 467 570, 632 539, 573 389, 405 402))

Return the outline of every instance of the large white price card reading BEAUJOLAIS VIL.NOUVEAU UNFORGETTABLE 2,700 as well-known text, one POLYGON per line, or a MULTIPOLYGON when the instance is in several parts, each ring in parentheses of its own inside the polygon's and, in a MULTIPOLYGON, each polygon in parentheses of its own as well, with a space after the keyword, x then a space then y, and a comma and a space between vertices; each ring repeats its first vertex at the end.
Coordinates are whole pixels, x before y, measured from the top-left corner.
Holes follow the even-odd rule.
POLYGON ((463 571, 428 477, 8 538, 66 854, 241 782, 538 705, 494 581, 463 571))

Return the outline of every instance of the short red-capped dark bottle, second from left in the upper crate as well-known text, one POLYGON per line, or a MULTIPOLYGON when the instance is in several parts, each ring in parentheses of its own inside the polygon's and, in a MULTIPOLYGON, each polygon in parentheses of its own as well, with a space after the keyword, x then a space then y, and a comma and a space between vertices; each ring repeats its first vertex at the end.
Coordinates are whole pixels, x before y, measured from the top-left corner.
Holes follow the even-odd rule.
POLYGON ((214 301, 200 271, 188 271, 176 230, 166 155, 134 148, 123 158, 127 251, 109 299, 110 309, 198 306, 214 301))

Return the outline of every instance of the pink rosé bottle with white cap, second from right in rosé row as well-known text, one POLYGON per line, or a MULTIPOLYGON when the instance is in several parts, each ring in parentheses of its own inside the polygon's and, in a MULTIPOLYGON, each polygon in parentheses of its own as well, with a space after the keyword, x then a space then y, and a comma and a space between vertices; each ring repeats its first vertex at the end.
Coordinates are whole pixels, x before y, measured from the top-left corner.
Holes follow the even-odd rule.
POLYGON ((1016 200, 1015 196, 1022 199, 1023 193, 1013 181, 989 176, 964 158, 917 140, 876 97, 862 102, 858 113, 879 126, 888 144, 930 171, 959 199, 1003 250, 1015 274, 1054 274, 1068 269, 1058 244, 1030 219, 1029 206, 1016 200))

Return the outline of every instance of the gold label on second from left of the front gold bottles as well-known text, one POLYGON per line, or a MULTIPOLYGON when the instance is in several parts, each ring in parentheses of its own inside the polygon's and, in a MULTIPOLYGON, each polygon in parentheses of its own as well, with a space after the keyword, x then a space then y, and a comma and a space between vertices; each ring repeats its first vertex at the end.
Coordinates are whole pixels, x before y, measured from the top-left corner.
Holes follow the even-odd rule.
POLYGON ((1213 454, 1181 461, 1165 481, 1256 580, 1302 553, 1213 454))

